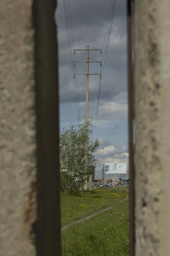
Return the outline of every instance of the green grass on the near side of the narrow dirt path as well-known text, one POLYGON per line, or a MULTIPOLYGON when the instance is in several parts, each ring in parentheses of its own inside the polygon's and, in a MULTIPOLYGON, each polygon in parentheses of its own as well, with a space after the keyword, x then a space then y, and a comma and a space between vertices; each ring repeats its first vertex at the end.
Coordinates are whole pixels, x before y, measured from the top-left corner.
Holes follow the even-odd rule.
POLYGON ((128 256, 129 201, 62 231, 62 256, 128 256))

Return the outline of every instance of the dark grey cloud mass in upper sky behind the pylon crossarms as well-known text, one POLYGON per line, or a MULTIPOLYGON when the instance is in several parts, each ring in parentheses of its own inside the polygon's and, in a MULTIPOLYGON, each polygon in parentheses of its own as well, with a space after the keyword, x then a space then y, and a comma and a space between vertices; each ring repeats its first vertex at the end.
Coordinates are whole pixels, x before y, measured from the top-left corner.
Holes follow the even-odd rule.
MULTIPOLYGON (((67 2, 67 0, 66 0, 67 2)), ((112 34, 102 76, 100 99, 110 101, 113 96, 127 90, 126 84, 126 8, 125 0, 117 0, 113 18, 112 34)), ((89 44, 102 48, 108 19, 110 0, 72 0, 69 1, 71 24, 75 48, 89 44)), ((60 102, 77 102, 71 59, 68 47, 67 29, 63 1, 59 0, 57 9, 59 39, 60 102)), ((105 48, 104 48, 105 49, 105 48)), ((85 58, 85 52, 76 54, 77 60, 85 58)), ((91 58, 99 60, 99 54, 91 52, 91 58)), ((85 70, 77 64, 79 72, 85 70)), ((93 67, 92 70, 96 71, 93 67)), ((89 81, 89 101, 98 99, 98 78, 89 81)), ((79 76, 79 100, 85 101, 85 77, 79 76), (84 80, 83 80, 84 79, 84 80)))

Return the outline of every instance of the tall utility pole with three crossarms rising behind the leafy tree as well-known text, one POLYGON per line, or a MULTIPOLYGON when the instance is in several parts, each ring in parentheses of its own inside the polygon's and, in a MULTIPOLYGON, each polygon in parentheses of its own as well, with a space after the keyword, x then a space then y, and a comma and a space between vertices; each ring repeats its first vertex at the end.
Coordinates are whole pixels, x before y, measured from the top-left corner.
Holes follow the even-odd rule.
MULTIPOLYGON (((86 51, 86 61, 74 61, 74 65, 75 63, 79 63, 79 62, 86 62, 86 73, 77 73, 77 74, 74 74, 74 78, 76 75, 85 75, 86 76, 86 93, 85 93, 85 129, 86 129, 86 132, 87 132, 87 137, 88 137, 88 78, 89 78, 89 75, 99 75, 100 76, 100 79, 102 78, 101 77, 101 74, 99 73, 89 73, 89 62, 99 62, 100 63, 100 66, 102 65, 101 61, 89 61, 89 51, 100 51, 100 54, 102 54, 102 51, 101 49, 89 49, 89 46, 87 45, 86 46, 86 49, 75 49, 74 50, 74 54, 76 54, 76 51, 86 51)), ((92 71, 93 72, 93 71, 92 71)), ((86 167, 88 168, 88 157, 87 157, 87 154, 88 154, 88 141, 87 141, 87 145, 86 145, 86 167)), ((89 191, 92 190, 92 172, 89 172, 88 173, 88 184, 89 184, 89 191)))

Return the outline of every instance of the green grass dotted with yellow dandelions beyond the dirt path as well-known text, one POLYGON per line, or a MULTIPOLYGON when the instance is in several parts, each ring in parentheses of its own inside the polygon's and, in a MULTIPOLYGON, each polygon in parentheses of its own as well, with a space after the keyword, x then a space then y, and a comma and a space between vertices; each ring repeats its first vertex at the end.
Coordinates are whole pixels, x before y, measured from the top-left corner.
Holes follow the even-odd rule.
POLYGON ((61 225, 115 205, 128 195, 128 188, 97 188, 84 191, 79 196, 61 195, 61 225))

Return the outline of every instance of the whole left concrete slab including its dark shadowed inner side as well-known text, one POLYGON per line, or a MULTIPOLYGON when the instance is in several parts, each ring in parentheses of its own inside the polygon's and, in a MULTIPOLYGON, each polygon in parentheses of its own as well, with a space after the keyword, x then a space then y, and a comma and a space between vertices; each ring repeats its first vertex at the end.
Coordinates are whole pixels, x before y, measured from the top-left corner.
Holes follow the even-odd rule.
POLYGON ((60 255, 55 9, 0 2, 0 256, 60 255))

